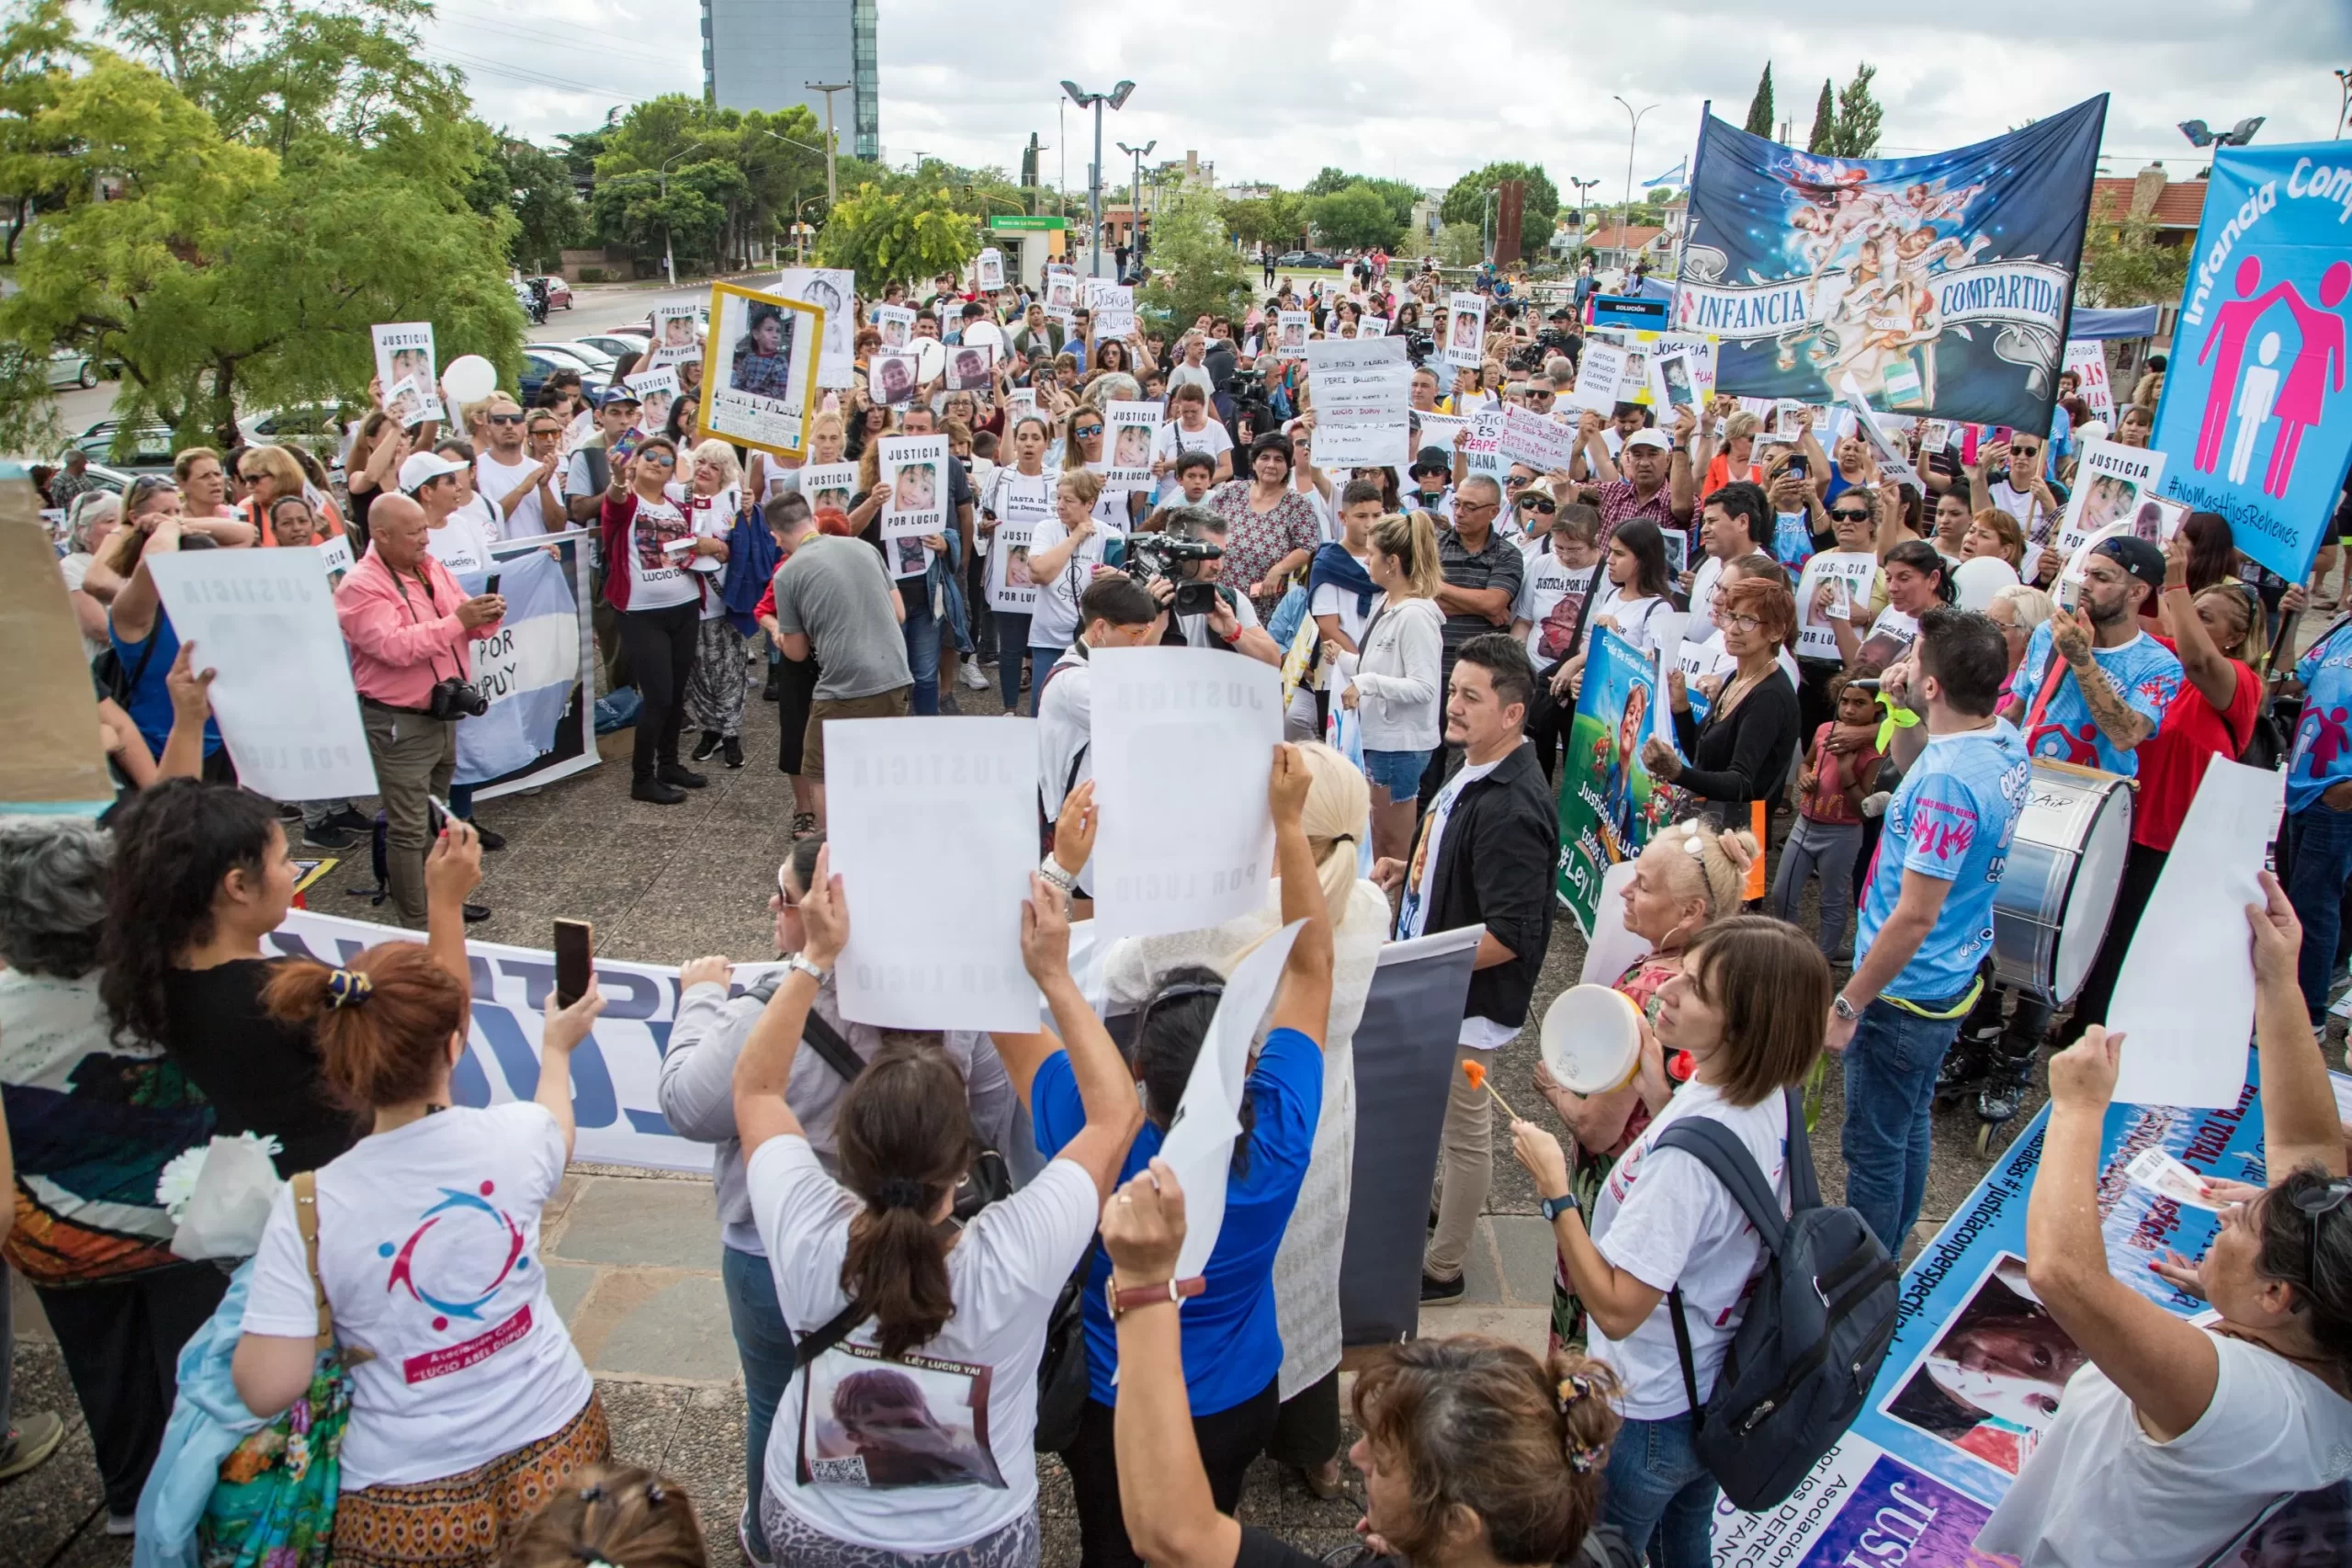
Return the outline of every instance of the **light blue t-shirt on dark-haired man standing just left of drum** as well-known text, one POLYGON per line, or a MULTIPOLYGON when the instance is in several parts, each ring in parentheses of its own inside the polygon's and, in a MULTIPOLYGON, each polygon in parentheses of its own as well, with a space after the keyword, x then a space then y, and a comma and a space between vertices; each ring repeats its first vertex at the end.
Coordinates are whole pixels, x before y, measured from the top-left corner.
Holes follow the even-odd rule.
POLYGON ((1943 896, 1919 952, 1886 983, 1889 997, 1943 1001, 1969 990, 1978 961, 1992 950, 1992 889, 2009 863, 2030 778, 2025 741, 2009 719, 1931 738, 1903 776, 1886 802, 1886 830, 1870 863, 1863 926, 1853 936, 1856 966, 1896 912, 1903 872, 1938 877, 1952 891, 1943 896))

